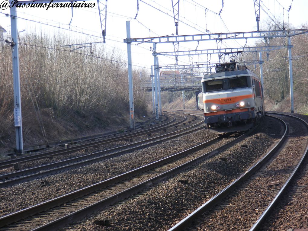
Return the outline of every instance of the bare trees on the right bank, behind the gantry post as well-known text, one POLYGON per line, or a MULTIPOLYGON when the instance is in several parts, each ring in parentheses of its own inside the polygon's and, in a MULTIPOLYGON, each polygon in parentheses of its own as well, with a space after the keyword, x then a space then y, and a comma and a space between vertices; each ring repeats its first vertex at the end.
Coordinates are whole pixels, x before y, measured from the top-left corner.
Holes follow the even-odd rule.
MULTIPOLYGON (((302 25, 302 29, 308 28, 308 25, 302 25)), ((263 30, 277 30, 273 24, 269 23, 268 28, 263 30)), ((255 46, 282 46, 288 45, 288 38, 266 38, 255 43, 255 46)), ((291 37, 292 61, 293 61, 293 82, 294 82, 294 102, 301 99, 301 102, 307 106, 308 103, 308 82, 307 82, 307 64, 308 64, 308 34, 301 34, 291 37), (296 97, 295 97, 296 95, 296 97)), ((289 78, 289 54, 288 49, 283 48, 270 52, 262 52, 265 97, 274 104, 282 102, 290 95, 289 78)), ((256 54, 247 53, 241 57, 242 60, 256 60, 256 54), (254 56, 253 56, 254 55, 254 56)), ((259 64, 254 70, 260 75, 259 64)), ((301 103, 301 105, 303 105, 301 103)), ((298 104, 297 104, 298 105, 298 104)))

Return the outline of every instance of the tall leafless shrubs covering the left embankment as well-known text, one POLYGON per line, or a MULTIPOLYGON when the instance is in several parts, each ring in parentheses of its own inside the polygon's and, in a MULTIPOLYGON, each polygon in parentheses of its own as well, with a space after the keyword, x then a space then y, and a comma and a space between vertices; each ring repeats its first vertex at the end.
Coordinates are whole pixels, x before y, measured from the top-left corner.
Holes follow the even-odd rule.
MULTIPOLYGON (((23 115, 43 108, 51 108, 58 118, 64 118, 72 111, 82 115, 128 113, 126 56, 115 49, 107 52, 99 46, 93 46, 91 53, 89 47, 71 52, 69 49, 72 48, 61 47, 83 42, 63 34, 21 34, 19 62, 23 115)), ((0 47, 0 56, 0 117, 1 121, 12 121, 14 96, 9 45, 0 47)), ((136 70, 134 75, 135 105, 137 110, 145 110, 144 90, 136 70)), ((0 122, 0 136, 3 129, 0 122)))

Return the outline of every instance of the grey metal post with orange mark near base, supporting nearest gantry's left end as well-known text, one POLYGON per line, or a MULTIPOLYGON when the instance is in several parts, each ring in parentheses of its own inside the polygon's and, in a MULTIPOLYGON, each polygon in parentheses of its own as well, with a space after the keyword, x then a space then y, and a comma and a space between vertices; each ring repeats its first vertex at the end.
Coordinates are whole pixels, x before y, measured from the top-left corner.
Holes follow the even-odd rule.
MULTIPOLYGON (((130 21, 126 21, 127 38, 131 38, 130 21)), ((134 95, 133 95, 133 75, 132 75, 132 44, 127 43, 127 59, 128 59, 128 90, 129 90, 129 113, 131 129, 135 129, 135 112, 134 112, 134 95)))

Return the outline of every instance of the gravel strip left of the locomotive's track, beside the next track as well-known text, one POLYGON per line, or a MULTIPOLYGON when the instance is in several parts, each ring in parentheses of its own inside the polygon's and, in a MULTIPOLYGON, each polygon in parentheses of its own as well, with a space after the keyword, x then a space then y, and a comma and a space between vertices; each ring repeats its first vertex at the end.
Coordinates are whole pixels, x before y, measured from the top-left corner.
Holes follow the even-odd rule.
POLYGON ((128 172, 166 156, 214 138, 216 135, 199 130, 151 147, 136 150, 115 158, 44 177, 0 188, 0 216, 36 205, 43 201, 73 192, 121 173, 128 172), (47 182, 47 186, 44 182, 47 182))

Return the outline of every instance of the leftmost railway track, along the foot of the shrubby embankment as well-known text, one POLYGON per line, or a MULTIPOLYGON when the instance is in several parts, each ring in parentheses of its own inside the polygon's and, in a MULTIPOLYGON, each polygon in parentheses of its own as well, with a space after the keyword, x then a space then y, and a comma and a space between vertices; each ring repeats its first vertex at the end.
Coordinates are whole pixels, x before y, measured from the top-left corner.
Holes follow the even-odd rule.
MULTIPOLYGON (((167 120, 169 120, 169 118, 170 118, 169 116, 166 116, 166 119, 162 120, 161 122, 167 121, 167 120)), ((1 161, 0 162, 0 169, 9 168, 14 163, 21 163, 22 164, 22 163, 25 163, 25 162, 28 162, 28 161, 40 160, 40 159, 48 158, 48 157, 51 157, 51 156, 66 155, 66 154, 69 154, 69 153, 77 152, 79 150, 83 150, 84 148, 90 148, 90 147, 93 147, 93 146, 110 144, 110 143, 114 143, 114 142, 117 142, 117 141, 120 141, 120 140, 129 139, 129 138, 133 138, 133 137, 136 137, 136 136, 144 135, 144 134, 147 134, 149 132, 157 132, 157 131, 175 126, 176 124, 183 123, 186 120, 186 117, 184 117, 184 118, 182 117, 182 120, 176 122, 175 124, 172 124, 176 121, 176 119, 174 118, 174 116, 172 116, 171 118, 172 119, 170 121, 166 122, 165 124, 157 125, 153 128, 148 128, 148 129, 144 129, 144 130, 137 131, 137 132, 131 132, 129 134, 115 136, 115 137, 111 137, 111 138, 106 138, 107 137, 106 136, 106 137, 103 137, 103 138, 106 138, 104 140, 98 140, 98 141, 87 143, 87 144, 75 145, 75 146, 60 149, 60 150, 43 152, 43 153, 40 153, 40 154, 20 157, 20 158, 16 158, 16 159, 12 159, 12 160, 1 161)))

